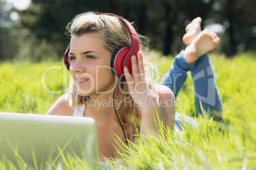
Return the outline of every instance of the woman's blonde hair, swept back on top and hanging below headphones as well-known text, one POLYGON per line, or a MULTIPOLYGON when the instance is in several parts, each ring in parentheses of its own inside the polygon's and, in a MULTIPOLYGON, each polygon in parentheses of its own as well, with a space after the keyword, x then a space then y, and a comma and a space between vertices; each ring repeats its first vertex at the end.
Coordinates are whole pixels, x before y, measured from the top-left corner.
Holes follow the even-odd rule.
MULTIPOLYGON (((104 39, 104 48, 113 55, 120 46, 131 46, 131 36, 127 27, 116 16, 111 15, 98 15, 98 13, 82 13, 77 15, 71 22, 68 23, 66 29, 70 36, 82 36, 83 34, 98 33, 104 39)), ((139 44, 141 51, 145 51, 145 44, 141 39, 145 39, 143 36, 139 36, 139 44)), ((134 134, 136 134, 136 128, 139 130, 141 123, 141 112, 136 105, 134 105, 125 77, 120 77, 117 90, 115 91, 114 98, 117 108, 117 114, 124 128, 125 134, 128 140, 134 141, 134 134), (120 83, 122 82, 122 83, 120 83), (121 90, 122 91, 121 91, 121 90), (124 93, 127 92, 127 93, 124 93), (129 98, 131 105, 125 103, 125 98, 129 98)), ((69 84, 69 105, 71 107, 78 107, 78 105, 85 104, 89 101, 89 97, 82 97, 78 94, 75 81, 71 80, 69 84)), ((79 107, 78 107, 79 108, 79 107)), ((115 119, 118 122, 117 116, 115 119)), ((119 122, 118 122, 119 124, 119 122)))

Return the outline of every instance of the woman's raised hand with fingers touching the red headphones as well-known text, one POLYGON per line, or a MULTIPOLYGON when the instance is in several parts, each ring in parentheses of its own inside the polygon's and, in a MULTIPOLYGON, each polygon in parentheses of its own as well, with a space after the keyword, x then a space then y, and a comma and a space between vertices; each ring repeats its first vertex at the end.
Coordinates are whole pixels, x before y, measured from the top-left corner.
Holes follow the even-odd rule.
POLYGON ((147 112, 156 112, 159 107, 159 96, 154 83, 149 75, 145 74, 145 66, 143 64, 143 55, 138 51, 137 58, 132 56, 132 75, 125 67, 124 74, 127 80, 129 93, 134 103, 141 110, 141 114, 147 112))

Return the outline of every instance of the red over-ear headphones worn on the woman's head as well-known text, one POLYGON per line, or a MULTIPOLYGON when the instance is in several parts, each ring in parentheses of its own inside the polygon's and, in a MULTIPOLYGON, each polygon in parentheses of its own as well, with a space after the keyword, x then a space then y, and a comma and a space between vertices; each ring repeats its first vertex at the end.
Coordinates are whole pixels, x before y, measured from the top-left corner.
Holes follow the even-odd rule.
MULTIPOLYGON (((132 73, 131 57, 133 55, 137 56, 137 52, 139 51, 139 39, 137 37, 136 30, 134 29, 134 27, 132 27, 131 23, 125 22, 125 20, 118 15, 115 15, 112 13, 103 13, 100 15, 117 16, 129 30, 129 33, 131 35, 131 48, 127 46, 121 46, 120 48, 118 48, 111 58, 111 68, 115 74, 124 75, 124 67, 126 66, 131 74, 132 73)), ((64 53, 64 63, 68 70, 70 66, 69 47, 70 47, 70 44, 68 46, 68 49, 66 49, 64 53)))

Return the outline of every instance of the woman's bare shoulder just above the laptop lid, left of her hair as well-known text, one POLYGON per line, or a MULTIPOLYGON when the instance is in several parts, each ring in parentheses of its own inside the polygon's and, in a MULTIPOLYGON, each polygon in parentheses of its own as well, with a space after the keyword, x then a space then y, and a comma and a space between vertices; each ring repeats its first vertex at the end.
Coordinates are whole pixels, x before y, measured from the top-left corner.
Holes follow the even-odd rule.
POLYGON ((65 93, 60 96, 60 98, 55 101, 55 103, 50 107, 46 115, 68 115, 73 116, 73 108, 69 106, 68 96, 65 93))

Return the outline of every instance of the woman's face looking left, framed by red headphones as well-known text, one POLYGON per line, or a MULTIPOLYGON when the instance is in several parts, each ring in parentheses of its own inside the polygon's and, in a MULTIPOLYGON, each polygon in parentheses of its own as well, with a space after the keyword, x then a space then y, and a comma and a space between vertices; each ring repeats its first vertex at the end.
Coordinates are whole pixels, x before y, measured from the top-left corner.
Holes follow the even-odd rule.
POLYGON ((100 34, 72 36, 69 57, 70 74, 80 96, 113 91, 115 74, 110 67, 111 53, 104 48, 104 39, 100 34))

